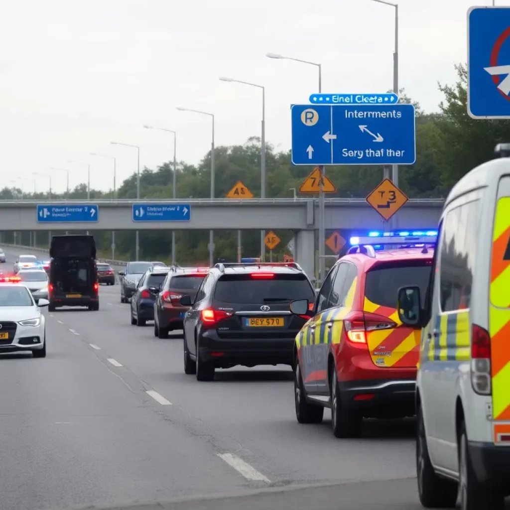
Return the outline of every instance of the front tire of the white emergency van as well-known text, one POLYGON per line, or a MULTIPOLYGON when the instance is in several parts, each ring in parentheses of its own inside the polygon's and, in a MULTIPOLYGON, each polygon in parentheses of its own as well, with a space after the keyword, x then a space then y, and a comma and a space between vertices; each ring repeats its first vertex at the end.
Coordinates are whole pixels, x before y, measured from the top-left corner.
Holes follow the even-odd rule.
POLYGON ((418 430, 416 438, 416 473, 418 496, 425 508, 455 508, 458 484, 438 476, 428 456, 427 437, 423 411, 418 409, 418 430))

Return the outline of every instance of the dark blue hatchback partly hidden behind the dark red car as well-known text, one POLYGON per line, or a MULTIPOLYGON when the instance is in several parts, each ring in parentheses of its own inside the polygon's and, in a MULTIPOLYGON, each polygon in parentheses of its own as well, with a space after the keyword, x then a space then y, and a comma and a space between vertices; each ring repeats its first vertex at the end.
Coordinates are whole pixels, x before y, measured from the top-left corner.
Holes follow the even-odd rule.
POLYGON ((154 320, 154 301, 169 269, 169 267, 148 269, 139 279, 131 298, 131 324, 145 326, 145 322, 154 320))

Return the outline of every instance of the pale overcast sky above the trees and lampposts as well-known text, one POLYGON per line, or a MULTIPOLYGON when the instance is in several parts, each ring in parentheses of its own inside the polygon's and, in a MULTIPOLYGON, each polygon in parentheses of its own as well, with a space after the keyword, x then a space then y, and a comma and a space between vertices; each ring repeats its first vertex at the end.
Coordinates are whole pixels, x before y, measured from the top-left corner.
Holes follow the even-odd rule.
MULTIPOLYGON (((490 3, 490 0, 487 0, 490 3)), ((510 2, 498 0, 498 5, 510 2)), ((479 4, 483 5, 484 2, 479 4)), ((437 82, 455 81, 466 61, 469 0, 400 0, 400 86, 426 111, 442 99, 437 82)), ((25 190, 86 182, 117 183, 173 157, 197 163, 211 147, 211 119, 177 106, 214 113, 216 145, 242 144, 261 130, 266 87, 266 140, 290 148, 291 103, 318 90, 317 68, 266 53, 322 64, 325 93, 384 92, 393 84, 394 9, 371 0, 19 0, 0 17, 0 150, 2 185, 24 177, 25 190)), ((20 186, 21 181, 17 182, 20 186)))

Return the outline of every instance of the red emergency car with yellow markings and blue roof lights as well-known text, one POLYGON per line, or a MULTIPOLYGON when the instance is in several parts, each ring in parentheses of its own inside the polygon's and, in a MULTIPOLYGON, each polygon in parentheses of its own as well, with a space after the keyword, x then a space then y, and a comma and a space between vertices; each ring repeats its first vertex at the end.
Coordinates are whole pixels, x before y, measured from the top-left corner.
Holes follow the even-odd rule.
MULTIPOLYGON (((294 400, 299 423, 320 423, 324 407, 338 438, 358 437, 363 418, 415 415, 420 331, 397 312, 400 287, 427 288, 436 231, 371 232, 351 238, 296 337, 294 400), (390 249, 394 246, 394 249, 390 249)), ((308 311, 307 300, 291 312, 308 311)))

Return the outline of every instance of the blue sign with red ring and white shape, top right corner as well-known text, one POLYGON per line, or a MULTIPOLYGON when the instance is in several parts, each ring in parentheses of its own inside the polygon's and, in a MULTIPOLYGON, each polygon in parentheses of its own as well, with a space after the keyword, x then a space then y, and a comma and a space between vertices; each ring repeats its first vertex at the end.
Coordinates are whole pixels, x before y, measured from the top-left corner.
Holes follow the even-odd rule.
POLYGON ((468 11, 468 114, 510 119, 510 7, 468 11))

